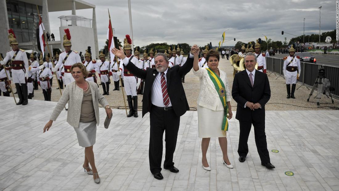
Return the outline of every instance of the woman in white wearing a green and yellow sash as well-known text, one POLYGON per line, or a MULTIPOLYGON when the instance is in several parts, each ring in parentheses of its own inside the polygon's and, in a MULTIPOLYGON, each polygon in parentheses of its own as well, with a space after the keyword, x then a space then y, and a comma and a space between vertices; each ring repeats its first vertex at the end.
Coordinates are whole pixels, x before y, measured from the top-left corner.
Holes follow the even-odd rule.
POLYGON ((233 168, 227 156, 228 119, 232 118, 231 92, 226 73, 218 69, 219 53, 209 50, 206 54, 208 68, 198 65, 198 57, 194 57, 193 73, 199 77, 200 93, 198 98, 198 133, 201 140, 202 167, 210 171, 206 153, 211 137, 218 137, 222 151, 222 162, 233 168))

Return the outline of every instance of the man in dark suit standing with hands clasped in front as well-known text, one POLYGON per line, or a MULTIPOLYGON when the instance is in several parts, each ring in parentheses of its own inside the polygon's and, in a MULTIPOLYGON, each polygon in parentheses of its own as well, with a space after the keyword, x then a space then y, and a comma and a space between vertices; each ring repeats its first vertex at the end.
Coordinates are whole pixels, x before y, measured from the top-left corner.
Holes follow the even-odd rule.
POLYGON ((239 161, 246 160, 247 140, 253 124, 261 165, 275 168, 270 161, 265 135, 265 104, 271 97, 270 83, 266 74, 255 70, 257 63, 255 54, 247 53, 244 59, 246 70, 235 75, 232 87, 232 97, 238 103, 235 118, 240 124, 239 161))

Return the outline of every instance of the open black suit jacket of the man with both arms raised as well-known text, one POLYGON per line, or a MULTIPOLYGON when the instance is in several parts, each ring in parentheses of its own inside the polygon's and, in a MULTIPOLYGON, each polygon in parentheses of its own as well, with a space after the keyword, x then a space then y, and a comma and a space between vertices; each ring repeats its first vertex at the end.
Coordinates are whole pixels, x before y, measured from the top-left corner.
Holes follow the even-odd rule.
MULTIPOLYGON (((171 100, 173 110, 177 116, 182 116, 190 110, 188 106, 184 87, 181 83, 182 76, 186 75, 193 68, 193 58, 188 56, 186 62, 181 67, 175 65, 167 70, 167 92, 171 100)), ((147 70, 139 69, 131 61, 125 66, 136 77, 145 80, 144 93, 142 97, 142 117, 151 110, 151 91, 155 77, 159 72, 155 68, 147 70)))

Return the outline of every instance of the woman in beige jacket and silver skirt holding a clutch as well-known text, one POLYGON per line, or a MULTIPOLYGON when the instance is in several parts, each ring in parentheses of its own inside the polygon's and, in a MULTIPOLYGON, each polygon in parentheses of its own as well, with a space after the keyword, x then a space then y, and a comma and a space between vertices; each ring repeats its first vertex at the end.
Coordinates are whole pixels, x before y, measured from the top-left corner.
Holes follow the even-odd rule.
POLYGON ((87 171, 87 174, 93 174, 95 183, 100 183, 93 153, 96 125, 99 125, 99 103, 105 107, 109 118, 112 117, 112 109, 105 97, 99 92, 98 85, 95 82, 85 80, 88 72, 82 63, 72 65, 71 72, 75 81, 66 86, 43 132, 51 128, 53 121, 57 119, 68 102, 67 122, 76 131, 79 145, 85 148, 83 168, 87 171), (88 163, 91 164, 93 171, 89 168, 88 163))

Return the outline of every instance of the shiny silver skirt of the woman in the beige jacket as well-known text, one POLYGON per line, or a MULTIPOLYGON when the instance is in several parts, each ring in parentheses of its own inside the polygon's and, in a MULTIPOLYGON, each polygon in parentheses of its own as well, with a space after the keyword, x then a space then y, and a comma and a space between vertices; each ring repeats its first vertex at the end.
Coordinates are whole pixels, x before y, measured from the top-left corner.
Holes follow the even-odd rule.
POLYGON ((97 134, 97 121, 94 120, 89 123, 79 123, 79 128, 74 128, 77 133, 79 146, 91 147, 95 144, 95 137, 97 134))

